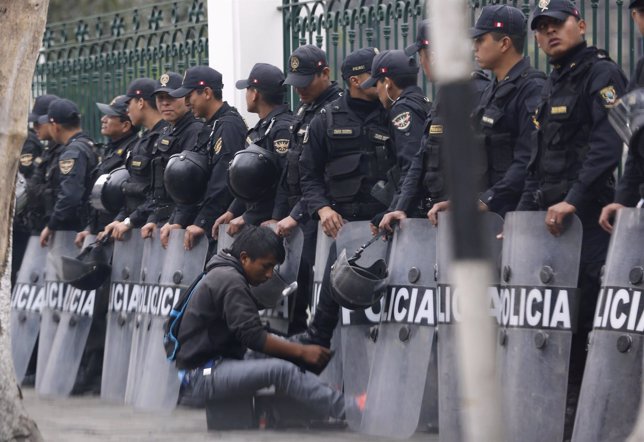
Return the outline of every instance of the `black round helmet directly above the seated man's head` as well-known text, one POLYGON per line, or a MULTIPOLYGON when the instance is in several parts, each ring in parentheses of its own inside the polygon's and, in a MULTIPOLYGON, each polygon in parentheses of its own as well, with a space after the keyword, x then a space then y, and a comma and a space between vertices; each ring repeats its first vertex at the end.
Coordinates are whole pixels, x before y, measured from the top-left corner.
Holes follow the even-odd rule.
POLYGON ((242 201, 254 203, 270 196, 280 178, 277 156, 251 144, 240 150, 228 167, 228 188, 242 201))

